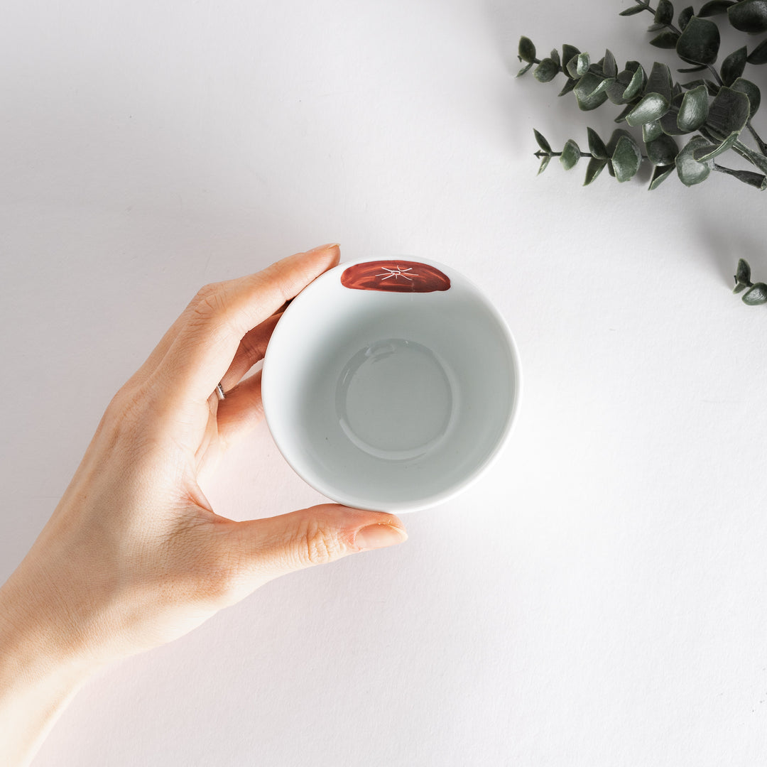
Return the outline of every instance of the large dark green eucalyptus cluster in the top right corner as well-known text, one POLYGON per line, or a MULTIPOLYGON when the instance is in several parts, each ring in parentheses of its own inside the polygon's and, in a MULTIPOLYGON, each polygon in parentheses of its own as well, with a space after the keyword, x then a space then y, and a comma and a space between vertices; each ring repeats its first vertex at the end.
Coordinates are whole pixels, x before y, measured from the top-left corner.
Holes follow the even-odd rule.
POLYGON ((738 31, 753 35, 767 31, 767 0, 709 0, 695 14, 690 5, 676 14, 670 0, 637 4, 621 12, 622 16, 649 12, 654 33, 650 44, 657 48, 673 48, 684 64, 681 74, 705 72, 703 77, 684 83, 675 81, 667 64, 655 61, 649 74, 638 61, 627 61, 619 70, 614 54, 607 50, 597 62, 574 45, 565 44, 545 58, 537 58, 535 44, 522 37, 518 57, 525 62, 519 75, 535 67, 535 79, 546 83, 558 74, 565 75, 560 96, 574 93, 578 107, 590 111, 607 100, 623 107, 616 123, 641 127, 641 140, 629 130, 618 128, 603 140, 588 128, 589 151, 581 151, 578 143, 568 140, 561 151, 554 151, 548 140, 535 131, 542 173, 552 157, 558 157, 565 170, 573 168, 581 158, 588 158, 584 185, 590 184, 607 167, 619 182, 633 178, 643 163, 653 172, 650 189, 656 189, 674 170, 685 186, 705 181, 714 170, 732 176, 742 183, 767 189, 767 143, 752 126, 759 110, 761 93, 752 81, 742 77, 747 64, 767 64, 767 38, 749 52, 746 45, 728 54, 716 68, 719 55, 719 27, 710 17, 726 15, 738 31), (754 146, 741 140, 748 131, 754 146), (685 137, 681 139, 680 137, 685 137), (683 141, 683 146, 677 143, 683 141), (719 156, 733 152, 754 166, 755 170, 739 170, 717 162, 719 156))

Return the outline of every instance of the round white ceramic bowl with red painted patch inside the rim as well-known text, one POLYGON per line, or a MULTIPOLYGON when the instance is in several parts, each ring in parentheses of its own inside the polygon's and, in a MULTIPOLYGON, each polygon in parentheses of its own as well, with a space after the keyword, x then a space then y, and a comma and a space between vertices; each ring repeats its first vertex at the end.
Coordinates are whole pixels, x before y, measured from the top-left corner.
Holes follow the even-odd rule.
POLYGON ((346 262, 301 291, 262 371, 269 430, 306 482, 408 512, 466 489, 509 436, 520 395, 504 319, 455 269, 346 262))

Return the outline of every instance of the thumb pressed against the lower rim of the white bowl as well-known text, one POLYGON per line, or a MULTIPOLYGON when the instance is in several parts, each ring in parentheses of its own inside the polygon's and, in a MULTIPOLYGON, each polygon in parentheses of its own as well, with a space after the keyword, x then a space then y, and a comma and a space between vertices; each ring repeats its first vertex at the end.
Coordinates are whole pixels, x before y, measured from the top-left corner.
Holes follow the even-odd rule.
POLYGON ((239 522, 235 535, 242 565, 262 582, 407 541, 402 522, 393 514, 334 503, 239 522))

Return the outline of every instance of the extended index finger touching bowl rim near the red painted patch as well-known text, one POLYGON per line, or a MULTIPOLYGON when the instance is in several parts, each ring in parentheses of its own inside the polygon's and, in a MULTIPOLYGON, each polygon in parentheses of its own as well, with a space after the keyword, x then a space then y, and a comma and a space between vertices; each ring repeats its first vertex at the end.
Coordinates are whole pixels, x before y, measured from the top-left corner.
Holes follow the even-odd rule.
POLYGON ((262 272, 202 288, 156 375, 162 390, 185 400, 208 400, 235 357, 242 337, 337 265, 337 244, 282 258, 262 272))

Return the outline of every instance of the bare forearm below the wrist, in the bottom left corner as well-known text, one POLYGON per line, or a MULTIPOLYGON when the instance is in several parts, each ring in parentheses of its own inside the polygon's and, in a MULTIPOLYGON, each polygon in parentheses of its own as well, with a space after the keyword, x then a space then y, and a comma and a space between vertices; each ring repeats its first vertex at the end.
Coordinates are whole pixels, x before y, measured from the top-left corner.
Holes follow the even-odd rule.
POLYGON ((95 667, 35 604, 24 565, 0 588, 0 764, 28 765, 95 667))

